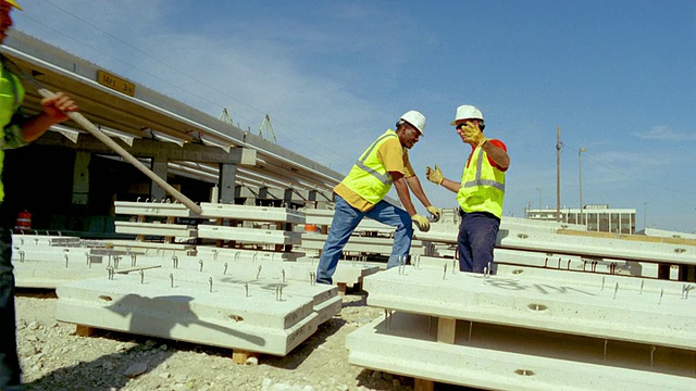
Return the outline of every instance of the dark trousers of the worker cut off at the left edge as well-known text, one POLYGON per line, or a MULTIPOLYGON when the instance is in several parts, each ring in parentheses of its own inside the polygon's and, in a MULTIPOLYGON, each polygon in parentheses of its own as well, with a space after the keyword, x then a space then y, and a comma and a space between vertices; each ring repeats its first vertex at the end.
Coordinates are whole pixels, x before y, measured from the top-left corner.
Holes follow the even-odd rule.
POLYGON ((17 358, 12 273, 12 231, 0 224, 0 390, 23 390, 17 358))

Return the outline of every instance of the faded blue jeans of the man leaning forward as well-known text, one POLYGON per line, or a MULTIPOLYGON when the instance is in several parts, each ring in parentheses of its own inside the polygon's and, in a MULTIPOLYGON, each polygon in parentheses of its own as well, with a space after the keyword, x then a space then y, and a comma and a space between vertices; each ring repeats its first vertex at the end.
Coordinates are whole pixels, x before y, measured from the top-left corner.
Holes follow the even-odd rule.
POLYGON ((413 220, 406 211, 383 200, 377 202, 370 211, 361 212, 350 206, 343 198, 336 195, 334 219, 331 223, 328 238, 326 238, 322 256, 316 267, 316 282, 333 283, 332 276, 336 272, 336 265, 344 247, 346 247, 350 235, 365 216, 396 228, 394 247, 387 261, 387 268, 398 266, 399 256, 408 256, 411 251, 411 238, 413 237, 413 220))

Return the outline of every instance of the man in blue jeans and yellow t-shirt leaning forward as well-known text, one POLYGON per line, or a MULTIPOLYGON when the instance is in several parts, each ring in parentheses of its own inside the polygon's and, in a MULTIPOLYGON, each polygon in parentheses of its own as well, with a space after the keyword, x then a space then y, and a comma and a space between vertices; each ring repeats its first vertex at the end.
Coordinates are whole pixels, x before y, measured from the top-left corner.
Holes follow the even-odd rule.
POLYGON ((387 268, 403 262, 411 250, 412 224, 422 231, 431 225, 425 216, 415 212, 409 188, 427 212, 439 217, 439 210, 427 200, 409 162, 408 150, 423 136, 424 128, 423 114, 414 110, 405 113, 396 123, 396 130, 387 129, 380 136, 334 188, 334 219, 316 267, 316 282, 333 283, 340 253, 365 216, 396 228, 387 268), (383 200, 391 184, 406 211, 383 200))

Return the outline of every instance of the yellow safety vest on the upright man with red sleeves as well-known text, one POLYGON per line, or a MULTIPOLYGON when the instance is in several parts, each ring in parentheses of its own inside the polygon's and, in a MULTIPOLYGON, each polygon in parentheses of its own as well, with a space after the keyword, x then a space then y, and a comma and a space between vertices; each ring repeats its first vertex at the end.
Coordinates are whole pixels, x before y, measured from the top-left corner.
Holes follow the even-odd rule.
POLYGON ((470 167, 461 174, 461 188, 457 202, 461 210, 469 212, 488 212, 498 218, 502 216, 505 199, 505 172, 488 162, 488 154, 481 147, 472 153, 470 167))

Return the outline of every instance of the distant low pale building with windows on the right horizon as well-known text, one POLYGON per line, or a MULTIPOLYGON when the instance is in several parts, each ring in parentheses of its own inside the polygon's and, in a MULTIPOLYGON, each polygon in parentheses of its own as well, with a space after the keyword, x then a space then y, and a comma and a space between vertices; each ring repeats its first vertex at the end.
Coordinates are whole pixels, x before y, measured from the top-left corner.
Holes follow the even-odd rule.
MULTIPOLYGON (((556 222, 556 209, 527 209, 526 218, 556 222)), ((635 234, 635 209, 610 209, 607 204, 589 204, 582 210, 563 207, 560 220, 586 225, 589 231, 635 234)))

